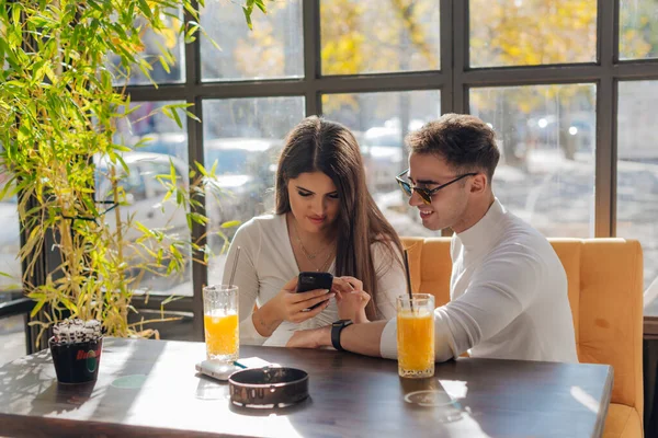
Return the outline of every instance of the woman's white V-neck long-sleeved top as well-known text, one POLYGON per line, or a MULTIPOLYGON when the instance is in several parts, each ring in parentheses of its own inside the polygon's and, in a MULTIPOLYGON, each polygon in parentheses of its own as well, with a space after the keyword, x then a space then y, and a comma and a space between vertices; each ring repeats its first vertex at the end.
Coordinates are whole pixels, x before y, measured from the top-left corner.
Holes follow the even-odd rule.
MULTIPOLYGON (((240 296, 240 344, 285 346, 295 331, 321 327, 338 320, 338 307, 331 299, 329 307, 317 316, 300 324, 284 321, 270 337, 261 336, 251 319, 253 304, 263 306, 299 274, 285 215, 259 216, 238 229, 228 250, 223 283, 230 277, 238 246, 240 256, 234 284, 238 286, 240 296)), ((371 251, 377 276, 376 309, 379 318, 388 320, 396 315, 396 297, 406 292, 401 255, 398 254, 399 260, 393 260, 381 242, 372 244, 371 251)), ((336 261, 327 272, 336 273, 336 261)))

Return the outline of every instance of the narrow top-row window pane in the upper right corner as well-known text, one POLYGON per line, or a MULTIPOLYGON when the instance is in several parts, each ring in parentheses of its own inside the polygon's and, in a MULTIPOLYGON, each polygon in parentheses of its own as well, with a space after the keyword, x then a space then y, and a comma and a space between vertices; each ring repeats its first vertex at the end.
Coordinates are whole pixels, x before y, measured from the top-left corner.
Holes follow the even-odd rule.
POLYGON ((621 0, 620 58, 658 57, 658 0, 621 0))

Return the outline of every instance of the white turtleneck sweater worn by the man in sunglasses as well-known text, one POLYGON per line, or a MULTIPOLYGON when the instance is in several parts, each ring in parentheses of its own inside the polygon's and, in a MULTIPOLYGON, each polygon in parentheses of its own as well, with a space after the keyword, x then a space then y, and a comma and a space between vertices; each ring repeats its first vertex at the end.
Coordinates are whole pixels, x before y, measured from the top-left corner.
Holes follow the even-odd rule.
MULTIPOLYGON (((434 311, 436 361, 472 357, 578 362, 567 276, 551 243, 496 199, 453 235, 451 301, 434 311)), ((382 333, 397 356, 396 321, 382 333)))

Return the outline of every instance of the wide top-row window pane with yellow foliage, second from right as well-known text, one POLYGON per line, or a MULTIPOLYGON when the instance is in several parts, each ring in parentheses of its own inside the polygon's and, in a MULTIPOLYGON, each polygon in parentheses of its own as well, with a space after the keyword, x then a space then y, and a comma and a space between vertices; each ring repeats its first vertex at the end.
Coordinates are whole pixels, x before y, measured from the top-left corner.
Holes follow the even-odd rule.
POLYGON ((597 59, 597 0, 470 0, 470 66, 597 59))

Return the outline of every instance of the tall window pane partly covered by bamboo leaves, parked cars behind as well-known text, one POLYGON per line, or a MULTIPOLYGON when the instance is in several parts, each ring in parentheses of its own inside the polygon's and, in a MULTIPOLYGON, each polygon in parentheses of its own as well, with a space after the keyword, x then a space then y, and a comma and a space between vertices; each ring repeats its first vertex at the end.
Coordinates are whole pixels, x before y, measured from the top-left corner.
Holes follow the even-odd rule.
MULTIPOLYGON (((138 102, 132 106, 139 106, 128 117, 131 124, 123 122, 117 126, 117 138, 127 146, 134 146, 140 140, 150 139, 147 146, 136 151, 125 152, 123 158, 128 165, 129 175, 123 182, 124 189, 128 195, 129 206, 123 207, 122 216, 133 216, 133 221, 141 222, 147 228, 166 229, 168 233, 178 233, 180 239, 190 239, 190 231, 185 219, 185 210, 177 208, 175 203, 169 199, 162 203, 166 189, 156 175, 170 173, 170 160, 175 166, 177 174, 181 177, 181 184, 188 186, 188 136, 186 119, 181 116, 183 128, 179 128, 175 122, 162 114, 161 107, 167 104, 182 102, 138 102), (154 115, 149 114, 156 112, 154 115)), ((181 113, 179 113, 181 114, 181 113)), ((101 166, 102 172, 103 166, 101 166)), ((101 196, 109 194, 106 178, 100 178, 97 189, 101 196)), ((113 224, 113 215, 107 216, 107 222, 113 224)), ((126 239, 134 242, 140 232, 132 230, 126 239)), ((135 257, 136 263, 144 263, 143 256, 136 252, 128 252, 128 256, 135 257)), ((164 269, 162 269, 164 270, 164 269)), ((192 295, 192 272, 188 269, 183 277, 161 276, 145 273, 140 288, 146 288, 154 293, 192 295)))

